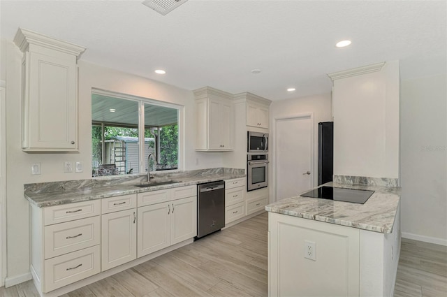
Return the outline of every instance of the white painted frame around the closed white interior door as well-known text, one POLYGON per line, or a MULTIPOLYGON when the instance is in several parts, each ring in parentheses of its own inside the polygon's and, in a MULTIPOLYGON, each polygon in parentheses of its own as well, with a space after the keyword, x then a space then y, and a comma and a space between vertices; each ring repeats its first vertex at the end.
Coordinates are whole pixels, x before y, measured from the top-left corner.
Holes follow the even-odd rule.
POLYGON ((270 187, 270 198, 269 201, 270 203, 277 201, 277 164, 278 164, 278 160, 277 160, 277 122, 281 119, 298 119, 298 118, 309 118, 311 121, 311 187, 314 188, 315 187, 315 181, 314 181, 314 173, 316 172, 316 168, 315 168, 315 145, 314 145, 314 140, 315 140, 315 122, 314 122, 314 113, 298 113, 298 114, 294 114, 294 115, 281 115, 279 117, 274 117, 272 119, 272 133, 270 134, 270 143, 273 143, 273 145, 270 145, 270 153, 272 154, 272 158, 270 158, 270 164, 272 164, 272 160, 273 160, 273 164, 275 164, 274 166, 270 166, 272 169, 272 178, 271 180, 271 184, 272 187, 270 187))

